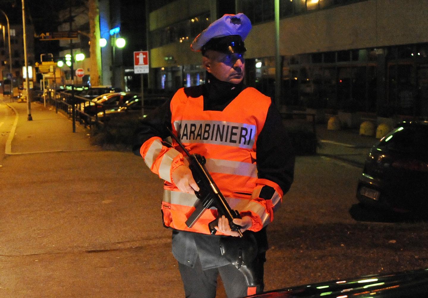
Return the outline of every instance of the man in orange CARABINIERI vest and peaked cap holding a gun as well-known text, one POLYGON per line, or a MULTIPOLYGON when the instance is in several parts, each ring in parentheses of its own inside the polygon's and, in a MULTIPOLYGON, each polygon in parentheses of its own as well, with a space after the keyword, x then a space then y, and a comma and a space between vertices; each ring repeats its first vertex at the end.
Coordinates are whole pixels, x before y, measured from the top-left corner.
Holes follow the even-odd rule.
POLYGON ((163 224, 172 229, 172 254, 189 298, 214 298, 219 274, 229 298, 263 291, 266 226, 294 177, 294 154, 279 112, 268 96, 243 84, 244 39, 250 30, 242 13, 224 15, 203 30, 190 47, 202 52, 205 84, 179 89, 142 121, 134 138, 134 153, 165 181, 163 224), (218 219, 211 235, 208 223, 219 217, 216 208, 186 225, 200 201, 199 187, 177 142, 165 141, 167 127, 190 154, 205 157, 211 177, 241 216, 233 223, 255 239, 244 252, 231 254, 254 256, 253 282, 238 270, 246 260, 235 262, 227 249, 220 250, 226 240, 238 239, 227 218, 218 219))

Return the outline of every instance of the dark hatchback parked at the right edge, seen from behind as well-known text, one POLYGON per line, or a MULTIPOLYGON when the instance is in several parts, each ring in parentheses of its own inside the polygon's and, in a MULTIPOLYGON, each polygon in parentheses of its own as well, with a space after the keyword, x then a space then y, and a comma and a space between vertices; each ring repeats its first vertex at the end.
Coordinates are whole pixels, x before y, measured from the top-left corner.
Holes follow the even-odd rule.
POLYGON ((428 121, 399 123, 372 147, 357 187, 366 206, 398 213, 428 207, 428 121))

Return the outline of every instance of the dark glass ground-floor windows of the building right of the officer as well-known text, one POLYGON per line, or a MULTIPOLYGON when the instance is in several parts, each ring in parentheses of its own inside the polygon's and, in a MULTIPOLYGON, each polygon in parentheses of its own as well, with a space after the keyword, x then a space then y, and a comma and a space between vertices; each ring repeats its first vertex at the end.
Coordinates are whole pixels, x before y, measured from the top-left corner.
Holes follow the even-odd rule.
MULTIPOLYGON (((282 57, 282 105, 428 115, 428 44, 282 57), (380 70, 384 72, 378 72, 380 70)), ((275 60, 247 60, 247 84, 273 96, 275 60), (254 75, 252 75, 254 72, 254 75)))

